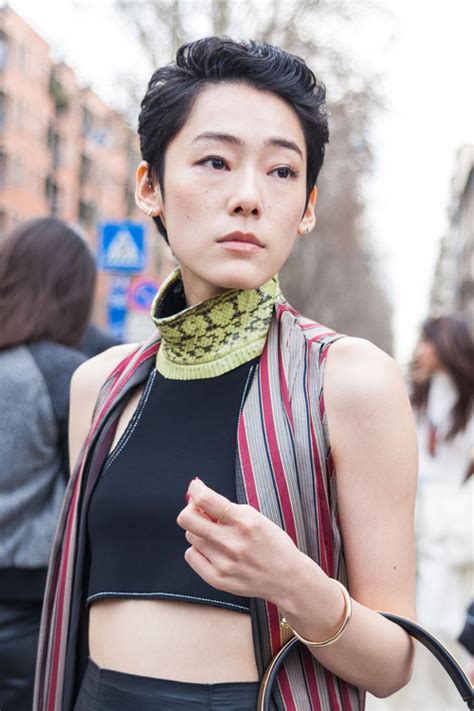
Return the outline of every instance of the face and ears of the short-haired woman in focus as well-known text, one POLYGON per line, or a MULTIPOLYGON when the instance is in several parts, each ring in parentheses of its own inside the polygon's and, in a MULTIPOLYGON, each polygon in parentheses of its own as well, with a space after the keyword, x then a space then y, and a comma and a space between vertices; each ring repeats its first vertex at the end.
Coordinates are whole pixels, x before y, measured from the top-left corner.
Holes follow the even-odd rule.
POLYGON ((159 187, 147 194, 141 164, 137 192, 154 201, 166 226, 188 304, 255 288, 280 270, 297 233, 315 222, 316 190, 305 210, 306 161, 293 109, 271 93, 228 83, 200 93, 169 143, 164 199, 159 187))

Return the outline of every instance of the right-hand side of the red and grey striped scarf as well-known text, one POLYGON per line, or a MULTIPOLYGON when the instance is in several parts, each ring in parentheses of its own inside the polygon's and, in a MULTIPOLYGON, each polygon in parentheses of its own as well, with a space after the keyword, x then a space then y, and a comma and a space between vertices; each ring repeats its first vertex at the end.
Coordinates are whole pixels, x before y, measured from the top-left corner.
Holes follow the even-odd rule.
MULTIPOLYGON (((338 338, 287 304, 277 306, 239 420, 237 491, 328 575, 346 582, 323 397, 326 355, 338 338)), ((286 638, 275 605, 257 600, 255 608, 257 661, 264 668, 286 638)), ((279 711, 360 711, 363 705, 358 689, 328 672, 301 645, 278 674, 273 708, 279 711)))

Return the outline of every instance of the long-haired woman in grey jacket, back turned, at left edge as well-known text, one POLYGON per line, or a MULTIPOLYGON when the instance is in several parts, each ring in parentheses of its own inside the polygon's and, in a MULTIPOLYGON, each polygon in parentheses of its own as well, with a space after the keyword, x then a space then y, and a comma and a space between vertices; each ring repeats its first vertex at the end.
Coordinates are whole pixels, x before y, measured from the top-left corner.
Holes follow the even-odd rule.
POLYGON ((21 224, 0 245, 0 708, 29 711, 53 533, 68 477, 69 382, 95 284, 65 222, 21 224))

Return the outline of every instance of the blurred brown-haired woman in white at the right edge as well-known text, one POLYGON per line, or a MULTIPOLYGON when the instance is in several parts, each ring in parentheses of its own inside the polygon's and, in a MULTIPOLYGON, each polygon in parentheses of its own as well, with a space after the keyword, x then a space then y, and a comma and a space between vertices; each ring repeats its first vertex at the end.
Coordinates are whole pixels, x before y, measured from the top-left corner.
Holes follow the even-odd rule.
MULTIPOLYGON (((415 540, 417 613, 467 669, 457 641, 472 596, 474 575, 474 342, 458 316, 429 318, 410 373, 419 445, 415 540)), ((450 679, 425 650, 413 680, 390 708, 459 708, 450 679)))

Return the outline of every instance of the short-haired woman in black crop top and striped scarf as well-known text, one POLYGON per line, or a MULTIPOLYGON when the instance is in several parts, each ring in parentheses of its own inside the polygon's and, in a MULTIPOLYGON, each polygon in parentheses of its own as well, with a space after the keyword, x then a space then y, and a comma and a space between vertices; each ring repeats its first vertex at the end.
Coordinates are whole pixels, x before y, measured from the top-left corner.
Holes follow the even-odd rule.
POLYGON ((301 59, 216 37, 150 81, 136 199, 180 267, 159 334, 73 381, 37 709, 255 709, 290 628, 307 645, 274 708, 361 709, 409 678, 376 612, 414 616, 402 378, 278 289, 315 224, 324 98, 301 59))

